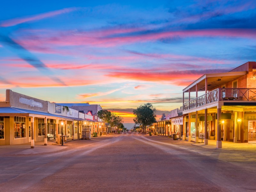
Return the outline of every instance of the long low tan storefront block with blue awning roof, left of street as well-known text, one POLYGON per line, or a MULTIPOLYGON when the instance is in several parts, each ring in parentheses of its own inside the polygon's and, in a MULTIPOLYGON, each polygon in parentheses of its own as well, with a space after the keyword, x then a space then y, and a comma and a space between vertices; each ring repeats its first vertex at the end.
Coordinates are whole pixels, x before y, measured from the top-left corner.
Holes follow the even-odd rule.
POLYGON ((60 143, 60 134, 74 140, 82 138, 84 130, 100 130, 102 123, 85 117, 88 114, 75 109, 6 90, 6 100, 0 102, 0 145, 31 142, 33 148, 35 141, 60 143))

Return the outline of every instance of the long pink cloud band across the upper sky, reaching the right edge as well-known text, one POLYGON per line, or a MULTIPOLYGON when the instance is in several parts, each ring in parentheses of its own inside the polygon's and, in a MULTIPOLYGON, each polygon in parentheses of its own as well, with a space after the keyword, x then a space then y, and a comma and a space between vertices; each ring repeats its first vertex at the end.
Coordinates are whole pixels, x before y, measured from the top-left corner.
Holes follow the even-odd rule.
MULTIPOLYGON (((143 31, 138 31, 143 32, 143 31)), ((108 31, 109 33, 109 31, 108 31)), ((190 38, 190 37, 232 37, 232 38, 256 38, 255 29, 198 29, 184 31, 165 31, 157 33, 141 33, 138 35, 125 34, 124 36, 106 36, 102 33, 93 34, 80 33, 73 34, 71 32, 61 32, 60 34, 52 34, 53 36, 41 36, 35 41, 33 38, 23 39, 21 43, 24 45, 35 45, 41 42, 49 46, 74 46, 74 45, 89 45, 96 47, 111 47, 123 44, 143 43, 148 41, 157 41, 163 38, 190 38)))

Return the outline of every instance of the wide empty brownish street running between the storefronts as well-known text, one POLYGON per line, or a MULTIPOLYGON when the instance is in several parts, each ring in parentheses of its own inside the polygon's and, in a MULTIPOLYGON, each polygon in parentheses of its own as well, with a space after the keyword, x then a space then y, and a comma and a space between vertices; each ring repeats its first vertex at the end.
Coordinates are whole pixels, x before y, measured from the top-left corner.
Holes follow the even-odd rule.
POLYGON ((256 191, 256 151, 192 144, 164 136, 121 133, 70 141, 64 147, 42 146, 49 150, 34 154, 28 153, 32 149, 0 148, 0 189, 256 191))

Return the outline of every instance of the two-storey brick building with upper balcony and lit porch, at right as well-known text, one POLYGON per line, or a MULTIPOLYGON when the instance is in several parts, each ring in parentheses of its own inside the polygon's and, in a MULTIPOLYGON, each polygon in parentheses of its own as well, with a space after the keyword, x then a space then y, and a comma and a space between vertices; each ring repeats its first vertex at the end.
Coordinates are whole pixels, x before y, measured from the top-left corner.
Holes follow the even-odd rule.
POLYGON ((185 139, 216 140, 217 148, 222 141, 256 142, 256 62, 205 74, 183 89, 183 125, 185 139))

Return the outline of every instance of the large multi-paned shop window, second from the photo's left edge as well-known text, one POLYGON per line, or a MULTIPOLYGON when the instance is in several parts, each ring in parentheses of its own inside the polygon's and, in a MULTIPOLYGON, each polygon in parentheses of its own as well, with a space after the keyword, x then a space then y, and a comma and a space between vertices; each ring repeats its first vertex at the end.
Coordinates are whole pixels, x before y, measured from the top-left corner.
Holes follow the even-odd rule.
POLYGON ((26 137, 26 117, 14 117, 14 138, 26 137))

